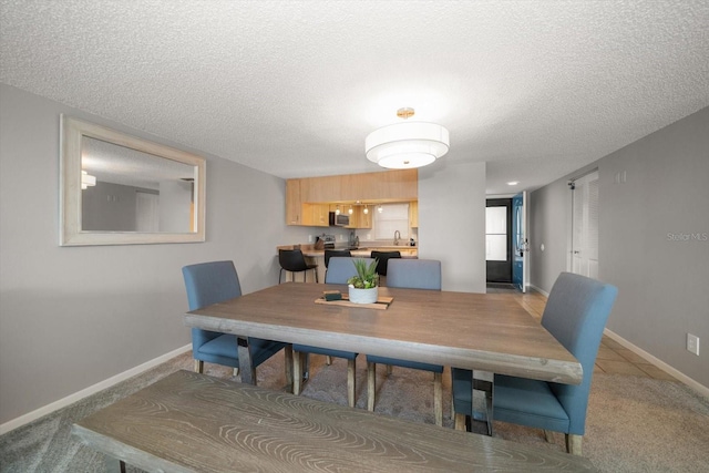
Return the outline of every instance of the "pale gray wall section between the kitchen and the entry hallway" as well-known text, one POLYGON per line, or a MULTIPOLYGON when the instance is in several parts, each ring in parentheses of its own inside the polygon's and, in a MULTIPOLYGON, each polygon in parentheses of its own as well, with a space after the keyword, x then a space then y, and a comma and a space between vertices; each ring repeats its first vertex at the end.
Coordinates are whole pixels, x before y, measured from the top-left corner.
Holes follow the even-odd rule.
POLYGON ((419 241, 420 258, 441 260, 443 290, 485 292, 485 163, 419 169, 419 241))

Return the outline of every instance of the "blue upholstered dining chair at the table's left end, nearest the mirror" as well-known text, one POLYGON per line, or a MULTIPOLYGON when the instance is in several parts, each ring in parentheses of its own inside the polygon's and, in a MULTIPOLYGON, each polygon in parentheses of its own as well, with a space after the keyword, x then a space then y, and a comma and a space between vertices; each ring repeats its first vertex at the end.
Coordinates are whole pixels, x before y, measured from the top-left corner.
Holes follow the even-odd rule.
MULTIPOLYGON (((233 261, 210 261, 182 268, 187 289, 189 310, 242 296, 242 285, 233 261)), ((292 349, 289 343, 248 338, 254 368, 268 360, 281 349, 286 353, 286 381, 292 383, 292 349)), ((192 352, 195 371, 204 371, 204 362, 239 368, 236 336, 202 329, 192 329, 192 352)), ((256 378, 254 378, 256 379, 256 378)))

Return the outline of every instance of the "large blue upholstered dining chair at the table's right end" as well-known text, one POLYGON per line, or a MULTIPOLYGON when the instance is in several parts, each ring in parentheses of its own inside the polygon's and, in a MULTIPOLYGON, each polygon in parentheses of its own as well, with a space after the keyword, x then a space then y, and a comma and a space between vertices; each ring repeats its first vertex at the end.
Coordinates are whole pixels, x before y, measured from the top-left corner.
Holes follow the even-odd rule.
MULTIPOLYGON (((495 421, 543 429, 549 442, 552 431, 563 432, 567 452, 580 455, 596 354, 617 292, 615 286, 596 279, 559 275, 542 325, 580 362, 584 379, 579 385, 572 385, 495 374, 495 421)), ((465 415, 471 413, 471 374, 469 370, 452 370, 455 428, 460 430, 465 429, 465 415)))

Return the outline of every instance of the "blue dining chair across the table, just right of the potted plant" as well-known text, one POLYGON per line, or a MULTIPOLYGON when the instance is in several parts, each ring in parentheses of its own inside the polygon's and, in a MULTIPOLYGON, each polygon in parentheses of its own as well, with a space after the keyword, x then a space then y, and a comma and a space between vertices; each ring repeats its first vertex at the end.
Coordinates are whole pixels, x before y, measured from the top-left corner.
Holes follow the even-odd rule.
MULTIPOLYGON (((373 251, 372 251, 373 253, 373 251)), ((410 289, 441 290, 441 261, 434 259, 390 259, 387 286, 410 289)), ((377 392, 377 363, 413 368, 433 372, 433 413, 436 425, 443 425, 443 367, 397 358, 367 356, 367 409, 374 410, 377 392)))

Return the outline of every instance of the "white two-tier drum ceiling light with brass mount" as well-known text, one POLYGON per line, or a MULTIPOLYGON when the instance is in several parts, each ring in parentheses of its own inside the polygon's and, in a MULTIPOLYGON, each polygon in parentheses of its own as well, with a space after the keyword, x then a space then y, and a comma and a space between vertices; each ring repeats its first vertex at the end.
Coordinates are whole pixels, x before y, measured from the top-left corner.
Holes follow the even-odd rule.
MULTIPOLYGON (((399 109, 397 116, 407 120, 413 109, 399 109)), ((401 122, 374 130, 364 140, 367 158, 382 167, 405 169, 433 163, 448 153, 448 130, 435 123, 401 122)))

